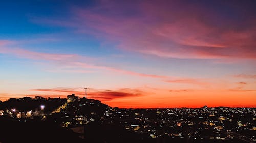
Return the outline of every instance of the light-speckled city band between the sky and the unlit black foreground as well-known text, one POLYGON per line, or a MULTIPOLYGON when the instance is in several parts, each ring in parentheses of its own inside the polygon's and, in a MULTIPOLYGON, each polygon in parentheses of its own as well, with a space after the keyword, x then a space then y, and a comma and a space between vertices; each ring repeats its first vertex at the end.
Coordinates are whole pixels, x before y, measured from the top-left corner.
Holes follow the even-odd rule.
MULTIPOLYGON (((237 139, 246 140, 246 142, 256 140, 253 132, 256 130, 253 124, 256 120, 255 108, 203 106, 201 108, 121 109, 104 105, 99 100, 79 98, 74 94, 68 95, 65 100, 56 98, 56 101, 62 103, 61 106, 49 104, 52 99, 36 98, 36 100, 39 103, 44 103, 38 105, 40 111, 37 108, 26 111, 26 108, 23 107, 16 109, 10 106, 9 109, 1 109, 0 116, 6 113, 6 116, 11 117, 11 120, 19 122, 40 118, 40 121, 47 123, 47 121, 54 119, 54 123, 61 127, 79 126, 82 129, 86 124, 90 126, 90 123, 98 123, 99 121, 101 121, 99 126, 116 122, 124 125, 123 129, 129 132, 137 132, 150 138, 165 138, 169 140, 168 142, 175 142, 175 140, 182 142, 184 138, 188 138, 190 141, 214 140, 216 142, 218 142, 217 140, 231 142, 236 142, 237 139), (65 103, 68 98, 72 101, 65 103), (54 107, 55 110, 51 113, 45 112, 45 104, 54 107), (100 110, 95 110, 95 107, 100 108, 100 110), (84 110, 88 112, 84 112, 84 110), (55 113, 60 114, 55 117, 55 113), (102 116, 98 116, 100 114, 102 116), (248 118, 244 118, 245 116, 248 118), (189 133, 187 134, 188 130, 189 133)), ((23 100, 19 101, 22 102, 23 100)), ((28 103, 34 101, 31 98, 28 103)))

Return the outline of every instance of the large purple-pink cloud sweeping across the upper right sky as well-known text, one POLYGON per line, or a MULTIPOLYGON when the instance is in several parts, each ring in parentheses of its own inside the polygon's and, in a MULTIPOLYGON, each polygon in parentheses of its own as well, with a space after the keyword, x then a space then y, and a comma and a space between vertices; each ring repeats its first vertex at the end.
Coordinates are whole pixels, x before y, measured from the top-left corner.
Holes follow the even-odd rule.
POLYGON ((119 43, 122 50, 164 58, 256 58, 256 21, 251 18, 229 26, 236 23, 220 21, 218 12, 197 4, 137 3, 101 2, 91 9, 73 8, 69 20, 34 21, 71 27, 119 43))

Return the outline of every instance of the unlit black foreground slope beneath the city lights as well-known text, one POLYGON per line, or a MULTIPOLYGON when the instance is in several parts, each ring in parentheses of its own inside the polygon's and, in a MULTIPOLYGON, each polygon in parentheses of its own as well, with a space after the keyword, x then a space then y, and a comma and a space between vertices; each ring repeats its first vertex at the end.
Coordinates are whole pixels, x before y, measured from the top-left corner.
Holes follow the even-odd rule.
POLYGON ((117 124, 89 124, 84 127, 84 139, 81 134, 59 127, 50 122, 18 122, 8 117, 0 117, 0 142, 243 142, 229 140, 191 140, 168 137, 151 138, 146 134, 131 132, 117 124))

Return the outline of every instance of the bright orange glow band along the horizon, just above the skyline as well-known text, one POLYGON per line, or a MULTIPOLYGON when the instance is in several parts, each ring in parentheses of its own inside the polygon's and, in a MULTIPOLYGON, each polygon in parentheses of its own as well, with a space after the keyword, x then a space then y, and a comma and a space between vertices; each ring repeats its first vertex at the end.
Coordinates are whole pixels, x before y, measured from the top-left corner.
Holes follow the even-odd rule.
MULTIPOLYGON (((256 107, 255 92, 232 92, 232 91, 205 91, 205 90, 176 90, 177 92, 159 91, 159 95, 152 94, 150 91, 146 93, 132 94, 129 92, 138 92, 137 90, 117 90, 117 91, 100 91, 98 90, 88 93, 89 99, 100 100, 102 103, 108 104, 111 107, 119 108, 199 108, 204 105, 208 107, 256 107), (125 93, 126 92, 126 93, 125 93), (146 94, 146 95, 144 95, 146 94), (161 96, 160 96, 161 95, 161 96), (207 95, 207 96, 206 96, 207 95), (123 97, 120 97, 123 96, 123 97), (143 101, 143 102, 142 102, 143 101)), ((84 92, 71 91, 63 94, 63 91, 50 92, 48 94, 31 94, 26 95, 34 97, 36 95, 51 98, 66 98, 67 95, 75 93, 79 97, 84 96, 84 92)), ((14 96, 21 98, 24 96, 14 96)), ((8 97, 9 98, 9 97, 8 97)), ((5 101, 8 98, 2 96, 1 100, 5 101)))

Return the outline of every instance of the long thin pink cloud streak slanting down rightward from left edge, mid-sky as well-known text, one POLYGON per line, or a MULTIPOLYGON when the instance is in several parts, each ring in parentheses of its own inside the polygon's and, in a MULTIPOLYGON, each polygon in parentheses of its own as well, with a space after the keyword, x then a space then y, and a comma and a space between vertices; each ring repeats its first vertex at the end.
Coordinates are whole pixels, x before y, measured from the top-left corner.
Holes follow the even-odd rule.
POLYGON ((99 65, 93 62, 92 59, 95 60, 95 58, 84 57, 78 54, 43 53, 43 52, 30 51, 23 48, 16 48, 16 47, 13 48, 13 47, 4 47, 4 46, 0 46, 0 53, 14 55, 19 58, 26 58, 26 59, 32 59, 32 60, 38 60, 38 61, 48 61, 51 64, 54 64, 55 66, 58 67, 57 69, 51 68, 50 70, 46 70, 49 72, 92 73, 92 72, 95 72, 94 70, 100 70, 100 71, 111 71, 114 73, 120 73, 124 75, 157 78, 169 83, 200 84, 200 82, 197 81, 197 79, 172 77, 172 76, 157 75, 157 74, 146 74, 146 73, 139 73, 139 72, 134 72, 130 70, 110 67, 110 66, 99 65), (83 62, 83 61, 87 61, 87 62, 83 62))

